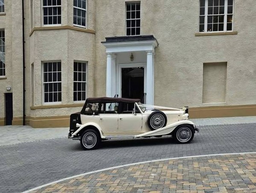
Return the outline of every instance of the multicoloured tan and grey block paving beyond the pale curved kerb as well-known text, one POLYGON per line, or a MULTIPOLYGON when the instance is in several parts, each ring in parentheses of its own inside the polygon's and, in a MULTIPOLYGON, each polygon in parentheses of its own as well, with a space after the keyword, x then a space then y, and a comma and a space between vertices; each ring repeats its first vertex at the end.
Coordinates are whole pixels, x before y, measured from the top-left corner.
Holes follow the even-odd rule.
POLYGON ((256 192, 256 154, 157 161, 79 176, 32 193, 256 192))

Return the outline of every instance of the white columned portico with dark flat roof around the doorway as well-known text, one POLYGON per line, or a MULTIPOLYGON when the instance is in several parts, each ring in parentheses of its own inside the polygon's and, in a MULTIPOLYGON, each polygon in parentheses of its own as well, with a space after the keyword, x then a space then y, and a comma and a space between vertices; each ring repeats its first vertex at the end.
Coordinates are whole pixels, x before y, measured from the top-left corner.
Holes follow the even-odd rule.
POLYGON ((106 96, 144 97, 144 102, 153 105, 156 38, 153 35, 111 37, 102 44, 107 55, 106 96))

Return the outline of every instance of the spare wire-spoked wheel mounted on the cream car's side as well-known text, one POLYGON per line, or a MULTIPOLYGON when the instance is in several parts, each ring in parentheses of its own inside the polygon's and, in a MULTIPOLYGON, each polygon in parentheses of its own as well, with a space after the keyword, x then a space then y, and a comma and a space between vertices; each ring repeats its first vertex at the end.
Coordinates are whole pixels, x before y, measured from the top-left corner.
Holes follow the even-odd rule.
POLYGON ((165 127, 167 123, 167 117, 162 111, 153 111, 147 119, 147 124, 150 129, 160 129, 165 127))

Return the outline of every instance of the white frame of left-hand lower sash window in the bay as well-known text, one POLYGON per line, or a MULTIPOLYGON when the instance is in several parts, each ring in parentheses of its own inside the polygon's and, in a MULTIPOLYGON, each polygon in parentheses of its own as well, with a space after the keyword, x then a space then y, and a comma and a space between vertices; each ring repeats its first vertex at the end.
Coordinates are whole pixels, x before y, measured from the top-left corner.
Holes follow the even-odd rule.
MULTIPOLYGON (((60 62, 60 65, 61 65, 61 71, 58 71, 58 69, 57 69, 57 73, 58 72, 60 72, 61 73, 61 81, 56 81, 56 83, 61 83, 61 88, 62 88, 62 61, 61 60, 50 60, 50 61, 42 61, 42 65, 41 65, 41 67, 42 67, 42 104, 43 105, 59 105, 59 104, 62 104, 62 90, 61 90, 61 101, 57 101, 57 102, 44 102, 44 83, 54 83, 53 81, 52 82, 44 82, 44 64, 45 63, 53 63, 53 62, 56 62, 56 63, 58 63, 58 62, 60 62)), ((57 66, 58 66, 58 64, 57 64, 57 66)), ((52 71, 53 72, 53 71, 52 71)), ((57 91, 57 92, 59 92, 59 91, 57 91)), ((58 97, 58 96, 57 96, 58 97)))

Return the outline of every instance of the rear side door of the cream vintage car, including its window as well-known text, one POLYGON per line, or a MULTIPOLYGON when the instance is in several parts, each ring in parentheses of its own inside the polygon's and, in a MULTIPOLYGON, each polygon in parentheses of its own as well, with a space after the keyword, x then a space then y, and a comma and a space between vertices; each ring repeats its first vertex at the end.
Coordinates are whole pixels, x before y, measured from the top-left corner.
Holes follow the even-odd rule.
POLYGON ((105 135, 110 135, 111 132, 118 132, 118 113, 115 112, 115 103, 103 103, 100 112, 100 128, 105 135))

